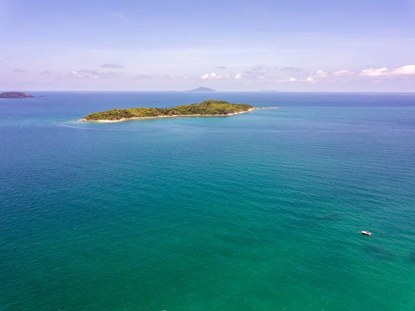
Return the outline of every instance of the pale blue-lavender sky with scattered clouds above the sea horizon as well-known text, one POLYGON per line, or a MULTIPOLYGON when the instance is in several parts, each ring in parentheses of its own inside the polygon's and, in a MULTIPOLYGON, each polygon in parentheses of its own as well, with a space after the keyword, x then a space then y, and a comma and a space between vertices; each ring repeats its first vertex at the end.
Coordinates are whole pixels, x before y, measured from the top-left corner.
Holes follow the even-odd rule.
POLYGON ((414 92, 415 0, 0 0, 0 91, 414 92))

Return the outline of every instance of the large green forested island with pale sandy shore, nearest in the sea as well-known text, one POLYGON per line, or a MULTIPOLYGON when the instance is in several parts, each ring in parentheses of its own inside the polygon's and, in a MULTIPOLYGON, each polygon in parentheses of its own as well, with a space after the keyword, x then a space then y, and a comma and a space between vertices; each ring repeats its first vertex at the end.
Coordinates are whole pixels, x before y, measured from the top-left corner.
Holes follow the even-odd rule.
POLYGON ((86 115, 83 122, 122 122, 133 119, 156 117, 191 117, 191 116, 221 116, 237 115, 257 109, 248 104, 231 104, 223 100, 205 100, 199 104, 181 105, 174 108, 128 108, 112 109, 86 115))

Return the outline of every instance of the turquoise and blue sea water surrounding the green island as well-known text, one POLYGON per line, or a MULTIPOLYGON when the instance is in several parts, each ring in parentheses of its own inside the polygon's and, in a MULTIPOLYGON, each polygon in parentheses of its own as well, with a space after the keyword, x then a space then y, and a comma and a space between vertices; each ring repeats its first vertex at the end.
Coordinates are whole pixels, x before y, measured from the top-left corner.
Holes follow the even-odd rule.
POLYGON ((0 310, 415 310, 415 95, 35 95, 0 101, 0 310), (73 122, 210 97, 280 109, 73 122))

